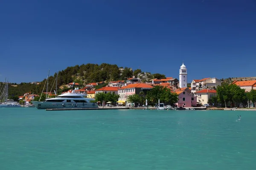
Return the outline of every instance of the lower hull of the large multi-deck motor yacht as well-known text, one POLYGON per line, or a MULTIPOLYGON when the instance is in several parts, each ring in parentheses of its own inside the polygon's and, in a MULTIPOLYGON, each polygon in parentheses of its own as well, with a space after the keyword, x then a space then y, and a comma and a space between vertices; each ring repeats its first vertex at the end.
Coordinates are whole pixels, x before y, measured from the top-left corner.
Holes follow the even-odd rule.
POLYGON ((72 102, 37 102, 33 101, 33 105, 35 105, 38 109, 66 109, 66 108, 98 108, 96 103, 72 103, 72 102))

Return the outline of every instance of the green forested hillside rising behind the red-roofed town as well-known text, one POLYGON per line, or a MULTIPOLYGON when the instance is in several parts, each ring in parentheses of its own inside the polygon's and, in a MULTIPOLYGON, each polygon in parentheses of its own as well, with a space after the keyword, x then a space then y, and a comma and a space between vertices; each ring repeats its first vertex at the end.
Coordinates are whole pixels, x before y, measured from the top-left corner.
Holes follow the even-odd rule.
MULTIPOLYGON (((55 90, 55 77, 56 73, 54 76, 49 77, 48 91, 51 89, 51 91, 55 90)), ((86 65, 82 64, 80 66, 75 65, 73 67, 67 67, 65 70, 59 71, 57 86, 60 87, 61 85, 67 85, 70 82, 77 82, 81 85, 81 87, 83 87, 84 85, 91 82, 126 80, 130 77, 138 77, 142 79, 143 82, 152 78, 166 78, 166 76, 163 74, 151 74, 150 72, 142 72, 140 69, 133 71, 131 68, 122 68, 118 67, 117 65, 111 65, 107 63, 102 63, 100 65, 88 63, 86 65)), ((16 85, 16 83, 10 83, 9 98, 17 99, 17 96, 22 96, 27 92, 31 92, 32 94, 41 94, 43 88, 46 88, 44 87, 46 80, 47 79, 45 78, 40 82, 39 85, 23 82, 18 84, 16 87, 12 86, 14 84, 16 85)))

